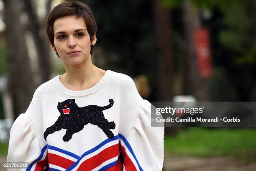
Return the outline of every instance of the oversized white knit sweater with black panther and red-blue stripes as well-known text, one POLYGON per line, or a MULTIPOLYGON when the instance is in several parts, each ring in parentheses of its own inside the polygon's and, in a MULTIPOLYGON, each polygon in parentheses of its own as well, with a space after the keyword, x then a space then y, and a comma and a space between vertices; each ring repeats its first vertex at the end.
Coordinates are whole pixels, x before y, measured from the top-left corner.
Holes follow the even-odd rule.
POLYGON ((10 171, 161 171, 164 128, 133 80, 107 70, 90 89, 72 91, 59 75, 39 86, 10 131, 10 171))

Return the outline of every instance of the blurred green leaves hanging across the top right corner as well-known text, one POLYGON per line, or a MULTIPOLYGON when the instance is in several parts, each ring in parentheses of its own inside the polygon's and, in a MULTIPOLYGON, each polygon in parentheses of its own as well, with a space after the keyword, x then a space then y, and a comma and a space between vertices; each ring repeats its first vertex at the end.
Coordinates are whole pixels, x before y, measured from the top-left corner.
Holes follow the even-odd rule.
MULTIPOLYGON (((191 0, 201 10, 217 8, 223 14, 220 43, 238 52, 236 64, 256 63, 256 1, 252 0, 191 0)), ((164 6, 182 8, 184 0, 162 0, 164 6)), ((202 12, 202 11, 201 11, 202 12)))

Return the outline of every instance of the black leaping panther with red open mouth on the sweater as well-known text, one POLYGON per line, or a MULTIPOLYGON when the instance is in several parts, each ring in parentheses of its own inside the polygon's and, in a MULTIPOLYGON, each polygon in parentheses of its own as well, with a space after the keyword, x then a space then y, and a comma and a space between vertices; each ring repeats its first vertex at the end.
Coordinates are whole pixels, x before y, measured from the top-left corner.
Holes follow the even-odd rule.
POLYGON ((79 132, 84 128, 84 125, 91 123, 97 125, 103 130, 108 138, 113 138, 114 134, 110 129, 115 129, 115 123, 108 122, 105 119, 103 110, 109 109, 114 104, 113 99, 109 100, 107 106, 88 105, 85 107, 78 107, 74 99, 68 99, 63 102, 58 102, 58 110, 60 112, 59 118, 54 125, 51 125, 44 132, 44 139, 49 134, 54 133, 57 130, 66 129, 66 134, 62 138, 64 141, 69 141, 74 133, 79 132))

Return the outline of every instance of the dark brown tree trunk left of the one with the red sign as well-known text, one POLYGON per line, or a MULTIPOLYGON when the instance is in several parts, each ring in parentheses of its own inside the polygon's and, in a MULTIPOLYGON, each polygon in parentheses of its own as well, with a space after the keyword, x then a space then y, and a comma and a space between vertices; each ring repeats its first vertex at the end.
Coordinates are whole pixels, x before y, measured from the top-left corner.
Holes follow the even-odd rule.
POLYGON ((156 36, 156 61, 158 76, 158 98, 172 100, 172 46, 170 9, 161 7, 161 0, 155 0, 154 27, 156 36))

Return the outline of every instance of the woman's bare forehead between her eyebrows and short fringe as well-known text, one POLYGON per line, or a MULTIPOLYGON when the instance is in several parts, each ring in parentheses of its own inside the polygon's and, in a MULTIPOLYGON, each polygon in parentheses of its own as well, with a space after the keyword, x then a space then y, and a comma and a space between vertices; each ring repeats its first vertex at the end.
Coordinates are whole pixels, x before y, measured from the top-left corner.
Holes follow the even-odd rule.
POLYGON ((57 18, 54 21, 54 34, 56 32, 68 32, 68 31, 74 31, 77 29, 84 28, 86 29, 86 24, 84 21, 84 18, 79 17, 77 18, 76 15, 68 15, 65 17, 57 18))

